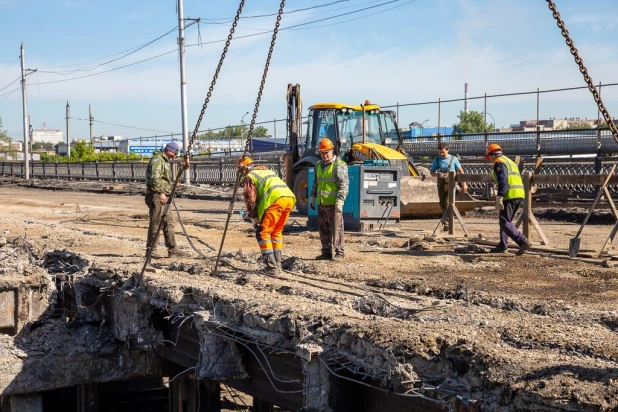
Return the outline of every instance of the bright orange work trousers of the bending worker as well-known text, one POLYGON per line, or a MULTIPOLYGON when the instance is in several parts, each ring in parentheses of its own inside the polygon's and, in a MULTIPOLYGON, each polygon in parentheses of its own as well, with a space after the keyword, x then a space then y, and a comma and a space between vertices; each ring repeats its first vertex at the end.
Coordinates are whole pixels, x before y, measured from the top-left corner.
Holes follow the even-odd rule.
POLYGON ((293 197, 280 197, 264 211, 256 232, 262 255, 272 254, 273 249, 283 249, 283 227, 295 203, 293 197))

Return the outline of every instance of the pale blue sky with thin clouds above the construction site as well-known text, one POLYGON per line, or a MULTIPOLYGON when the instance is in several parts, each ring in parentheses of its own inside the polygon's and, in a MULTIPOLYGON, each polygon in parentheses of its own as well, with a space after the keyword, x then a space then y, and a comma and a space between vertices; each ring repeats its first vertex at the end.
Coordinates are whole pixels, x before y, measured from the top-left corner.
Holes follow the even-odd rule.
MULTIPOLYGON (((618 0, 555 1, 595 84, 618 83, 618 0)), ((27 77, 33 127, 65 131, 69 102, 72 138, 89 136, 79 120, 88 105, 94 136, 180 133, 176 3, 0 0, 3 129, 23 139, 23 42, 26 68, 37 70, 27 77)), ((237 8, 232 0, 184 0, 185 18, 201 19, 186 30, 189 131, 237 8)), ((246 0, 200 130, 239 124, 247 112, 250 121, 278 8, 279 1, 246 0)), ((471 97, 585 86, 544 0, 287 0, 285 12, 258 122, 285 118, 288 83, 301 85, 304 114, 323 101, 399 103, 400 127, 457 122, 463 102, 404 104, 463 98, 466 82, 471 97)), ((602 96, 618 117, 618 85, 602 96)), ((535 119, 536 101, 535 94, 489 98, 486 111, 508 126, 535 119)), ((484 111, 484 100, 471 100, 470 109, 484 111)), ((539 112, 541 119, 597 117, 587 89, 543 93, 539 112)), ((285 137, 284 123, 276 135, 285 137)))

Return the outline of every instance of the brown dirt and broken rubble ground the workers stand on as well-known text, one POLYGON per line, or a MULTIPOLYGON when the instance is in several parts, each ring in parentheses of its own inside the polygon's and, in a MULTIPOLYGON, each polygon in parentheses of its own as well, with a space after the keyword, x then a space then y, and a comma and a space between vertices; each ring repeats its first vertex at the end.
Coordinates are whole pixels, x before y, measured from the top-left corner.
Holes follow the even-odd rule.
MULTIPOLYGON (((4 184, 0 201, 0 236, 25 235, 41 250, 141 268, 148 226, 142 196, 4 184)), ((618 408, 618 269, 609 258, 480 253, 460 227, 456 238, 440 233, 423 240, 438 224, 427 219, 403 221, 398 231, 346 234, 344 261, 315 261, 317 233, 293 214, 284 258, 294 273, 272 278, 259 272, 251 226, 235 213, 223 253, 233 265, 224 264, 213 278, 210 248, 219 246, 229 202, 181 198, 176 204, 195 246, 211 259, 194 254, 185 261, 188 272, 170 259, 153 261, 165 270, 148 274, 150 284, 217 287, 222 296, 346 323, 346 333, 370 336, 375 347, 404 357, 436 398, 459 396, 483 410, 618 408), (461 246, 468 249, 456 252, 461 246), (433 310, 410 310, 420 308, 433 310)), ((237 202, 236 210, 242 206, 237 202)), ((569 216, 540 219, 551 246, 568 248, 579 228, 572 223, 577 216, 569 216)), ((464 220, 473 237, 497 239, 494 213, 464 220)), ((611 223, 587 226, 582 249, 599 249, 610 230, 611 223)), ((177 240, 190 251, 179 225, 177 240)), ((324 327, 311 332, 317 343, 333 344, 324 327)))

